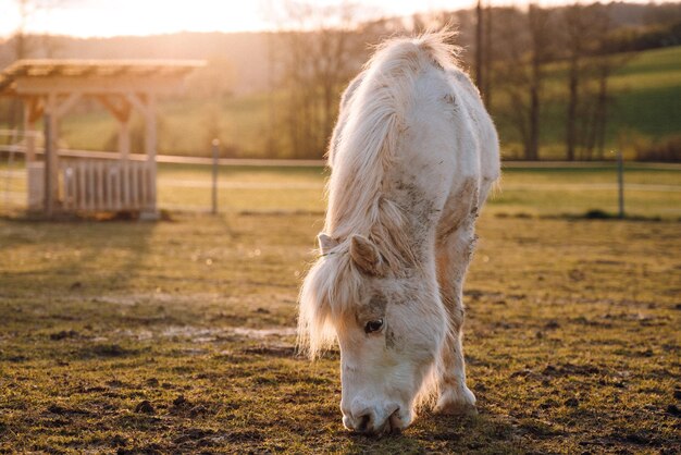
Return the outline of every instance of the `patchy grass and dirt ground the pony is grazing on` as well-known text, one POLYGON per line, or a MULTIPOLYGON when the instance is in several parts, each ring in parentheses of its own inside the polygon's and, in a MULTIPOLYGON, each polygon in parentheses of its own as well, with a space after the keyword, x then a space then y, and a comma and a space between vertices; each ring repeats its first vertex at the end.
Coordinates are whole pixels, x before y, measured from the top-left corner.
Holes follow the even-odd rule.
POLYGON ((678 222, 483 217, 480 415, 368 439, 294 352, 319 218, 0 221, 0 452, 678 453, 678 222))

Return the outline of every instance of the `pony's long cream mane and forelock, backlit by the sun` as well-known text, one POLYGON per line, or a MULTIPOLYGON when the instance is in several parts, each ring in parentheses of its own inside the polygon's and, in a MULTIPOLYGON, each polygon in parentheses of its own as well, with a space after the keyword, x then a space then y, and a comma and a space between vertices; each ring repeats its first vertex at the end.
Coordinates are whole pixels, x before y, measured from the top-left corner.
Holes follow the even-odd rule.
POLYGON ((394 271, 416 263, 400 208, 385 198, 385 170, 396 159, 413 84, 426 67, 456 66, 451 32, 396 38, 377 48, 344 99, 345 124, 334 133, 333 172, 327 184, 324 232, 338 242, 320 257, 300 291, 298 342, 311 356, 333 343, 331 318, 358 303, 361 272, 351 262, 348 237, 361 234, 381 250, 394 271))

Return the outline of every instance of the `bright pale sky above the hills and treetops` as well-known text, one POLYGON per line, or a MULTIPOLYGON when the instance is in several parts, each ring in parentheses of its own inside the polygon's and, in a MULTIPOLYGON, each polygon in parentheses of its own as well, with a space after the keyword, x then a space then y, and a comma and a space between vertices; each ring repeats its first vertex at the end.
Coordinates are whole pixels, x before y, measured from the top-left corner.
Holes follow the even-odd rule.
MULTIPOLYGON (((26 29, 34 33, 77 37, 156 35, 175 32, 245 32, 272 28, 270 5, 277 0, 28 0, 53 3, 29 15, 26 29)), ((474 0, 360 0, 363 14, 410 15, 416 12, 468 8, 474 0)), ((492 0, 509 4, 512 0, 492 0)), ((540 4, 570 0, 540 0, 540 4)), ((571 0, 574 1, 574 0, 571 0)), ((645 1, 645 0, 642 0, 645 1)), ((338 4, 342 0, 318 0, 338 4)), ((521 2, 525 2, 521 0, 521 2)), ((0 0, 0 37, 13 34, 20 24, 18 0, 0 0)))

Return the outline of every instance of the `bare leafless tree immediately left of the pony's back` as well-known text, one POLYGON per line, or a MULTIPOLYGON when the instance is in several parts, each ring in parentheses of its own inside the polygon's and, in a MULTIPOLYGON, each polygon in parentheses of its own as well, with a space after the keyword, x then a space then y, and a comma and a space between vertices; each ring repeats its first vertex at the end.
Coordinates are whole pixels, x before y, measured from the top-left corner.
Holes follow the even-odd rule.
POLYGON ((343 86, 363 60, 364 36, 356 30, 357 5, 286 1, 273 58, 282 74, 285 133, 296 158, 321 157, 337 114, 343 86))

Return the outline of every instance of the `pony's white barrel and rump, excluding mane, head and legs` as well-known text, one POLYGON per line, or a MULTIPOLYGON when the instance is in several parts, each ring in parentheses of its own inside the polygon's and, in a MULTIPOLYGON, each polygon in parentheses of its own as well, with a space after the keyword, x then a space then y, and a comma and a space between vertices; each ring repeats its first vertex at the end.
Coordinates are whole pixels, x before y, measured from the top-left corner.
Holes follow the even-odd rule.
POLYGON ((494 123, 474 85, 454 64, 431 63, 419 73, 399 140, 393 174, 418 182, 443 216, 453 206, 479 208, 499 176, 494 123))

